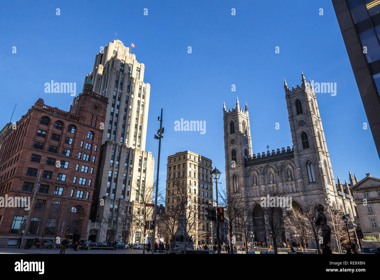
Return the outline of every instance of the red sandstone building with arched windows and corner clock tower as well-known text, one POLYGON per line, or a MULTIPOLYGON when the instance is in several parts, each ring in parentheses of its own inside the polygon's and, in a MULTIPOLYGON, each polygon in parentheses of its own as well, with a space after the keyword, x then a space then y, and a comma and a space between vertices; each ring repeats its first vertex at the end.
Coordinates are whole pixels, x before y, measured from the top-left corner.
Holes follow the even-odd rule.
POLYGON ((23 229, 24 243, 25 238, 29 243, 65 235, 87 238, 108 98, 94 93, 89 79, 75 101, 66 112, 40 98, 15 129, 6 131, 0 150, 0 197, 30 197, 31 202, 37 191, 30 210, 0 203, 0 247, 17 245, 23 229))

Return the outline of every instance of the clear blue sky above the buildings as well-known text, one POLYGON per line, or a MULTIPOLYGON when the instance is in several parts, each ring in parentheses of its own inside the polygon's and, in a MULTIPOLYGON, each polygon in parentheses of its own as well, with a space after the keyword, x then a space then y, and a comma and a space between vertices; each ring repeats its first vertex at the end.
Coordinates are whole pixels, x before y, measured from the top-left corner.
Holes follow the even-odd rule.
MULTIPOLYGON (((192 150, 224 173, 223 101, 248 104, 253 152, 291 146, 283 79, 336 82, 337 94, 317 93, 335 179, 348 170, 380 177, 380 162, 330 0, 322 1, 7 1, 0 11, 0 116, 21 118, 38 98, 69 110, 70 94, 45 93, 44 83, 76 82, 81 90, 101 46, 132 41, 150 83, 146 150, 157 165, 163 108, 160 184, 166 158, 192 150), (55 9, 60 8, 60 16, 55 9), (144 16, 144 8, 148 15, 144 16), (236 9, 236 16, 231 9, 236 9), (323 8, 323 16, 319 9, 323 8), (17 53, 12 53, 16 46, 17 53), (192 53, 187 53, 188 46, 192 53), (280 53, 275 53, 275 47, 280 53), (231 85, 236 85, 236 92, 231 85), (206 121, 206 133, 174 131, 176 120, 206 121), (280 130, 275 130, 275 123, 280 130)), ((221 176, 222 186, 225 177, 221 176)))

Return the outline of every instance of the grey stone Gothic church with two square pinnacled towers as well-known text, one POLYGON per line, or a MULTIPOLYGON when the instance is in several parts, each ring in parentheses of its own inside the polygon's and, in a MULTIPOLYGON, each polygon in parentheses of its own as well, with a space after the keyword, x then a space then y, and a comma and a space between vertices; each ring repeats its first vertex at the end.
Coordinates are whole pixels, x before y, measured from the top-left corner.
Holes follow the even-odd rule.
MULTIPOLYGON (((328 202, 333 209, 340 208, 344 213, 356 216, 355 203, 347 199, 349 196, 340 195, 342 192, 335 184, 312 83, 309 80, 308 84, 302 73, 301 86, 290 90, 284 81, 284 89, 292 148, 253 154, 247 103, 245 109, 240 107, 238 99, 233 109, 227 110, 223 105, 227 191, 234 192, 243 187, 253 220, 255 216, 262 216, 260 206, 254 207, 254 202, 267 188, 273 187, 282 190, 283 196, 292 197, 293 207, 302 209, 306 205, 326 205, 328 202)), ((269 244, 272 240, 262 222, 253 222, 253 225, 254 240, 269 244)), ((294 235, 285 229, 277 242, 291 245, 294 235)), ((236 243, 245 241, 240 238, 240 234, 233 237, 236 243)), ((332 245, 335 245, 332 239, 332 245)), ((309 242, 310 247, 315 247, 313 243, 309 242)))

